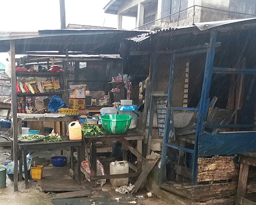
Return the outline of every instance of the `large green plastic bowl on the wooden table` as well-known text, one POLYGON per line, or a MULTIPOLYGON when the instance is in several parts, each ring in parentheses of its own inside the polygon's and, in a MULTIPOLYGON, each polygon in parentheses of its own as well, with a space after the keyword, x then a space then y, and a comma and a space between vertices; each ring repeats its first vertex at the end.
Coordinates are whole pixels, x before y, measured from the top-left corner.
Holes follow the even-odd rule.
POLYGON ((130 126, 132 116, 125 114, 106 114, 100 116, 103 128, 110 134, 122 134, 130 126))

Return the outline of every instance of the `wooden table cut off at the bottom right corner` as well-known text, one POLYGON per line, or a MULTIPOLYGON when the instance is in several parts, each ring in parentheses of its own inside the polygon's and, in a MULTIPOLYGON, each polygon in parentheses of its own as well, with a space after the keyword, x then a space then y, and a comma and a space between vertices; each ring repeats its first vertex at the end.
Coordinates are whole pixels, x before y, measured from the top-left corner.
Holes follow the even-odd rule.
POLYGON ((240 162, 240 171, 234 202, 241 205, 256 205, 256 202, 250 201, 245 198, 249 166, 256 166, 256 152, 244 152, 238 153, 238 155, 240 162))

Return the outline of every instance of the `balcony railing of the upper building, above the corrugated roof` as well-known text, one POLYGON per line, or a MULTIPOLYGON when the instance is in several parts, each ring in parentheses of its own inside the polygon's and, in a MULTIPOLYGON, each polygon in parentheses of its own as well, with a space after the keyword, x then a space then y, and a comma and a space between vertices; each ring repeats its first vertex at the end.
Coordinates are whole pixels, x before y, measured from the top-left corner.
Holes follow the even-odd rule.
POLYGON ((197 22, 208 22, 217 20, 231 20, 256 17, 256 14, 232 12, 210 8, 206 6, 193 5, 178 12, 150 21, 134 29, 155 30, 177 26, 193 25, 197 22))

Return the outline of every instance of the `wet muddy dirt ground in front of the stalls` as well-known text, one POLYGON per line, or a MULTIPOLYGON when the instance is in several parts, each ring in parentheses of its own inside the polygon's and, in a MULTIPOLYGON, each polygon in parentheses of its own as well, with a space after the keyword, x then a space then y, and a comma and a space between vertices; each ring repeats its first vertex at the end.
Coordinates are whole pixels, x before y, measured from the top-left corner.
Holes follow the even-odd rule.
MULTIPOLYGON (((13 191, 13 182, 10 181, 8 178, 6 179, 6 188, 0 189, 0 204, 1 205, 9 205, 9 204, 18 204, 18 205, 51 205, 53 204, 51 202, 51 199, 54 198, 55 193, 53 192, 39 192, 35 188, 36 182, 29 182, 29 188, 25 189, 24 181, 21 181, 18 183, 19 191, 14 192, 13 191)), ((83 181, 83 184, 88 184, 87 182, 83 181)), ((137 193, 138 195, 143 194, 145 197, 145 191, 143 193, 137 193)), ((109 182, 104 184, 102 187, 98 186, 92 191, 92 196, 88 198, 88 204, 93 204, 91 201, 94 201, 94 199, 98 199, 99 197, 102 197, 100 203, 105 204, 113 204, 113 202, 110 201, 116 201, 115 198, 119 198, 119 203, 128 203, 129 201, 135 201, 134 204, 140 204, 140 205, 156 205, 156 204, 166 204, 165 202, 159 200, 156 197, 151 198, 143 198, 139 199, 136 197, 136 195, 130 195, 130 194, 120 194, 114 191, 113 187, 109 182), (109 201, 110 200, 110 201, 109 201)), ((96 200, 95 200, 96 201, 96 200)), ((100 204, 98 203, 98 204, 100 204)), ((68 203, 65 203, 66 205, 69 205, 68 203)), ((71 204, 71 203, 70 203, 71 204)), ((94 204, 97 204, 95 202, 94 204)), ((75 203, 73 204, 75 205, 75 203)))

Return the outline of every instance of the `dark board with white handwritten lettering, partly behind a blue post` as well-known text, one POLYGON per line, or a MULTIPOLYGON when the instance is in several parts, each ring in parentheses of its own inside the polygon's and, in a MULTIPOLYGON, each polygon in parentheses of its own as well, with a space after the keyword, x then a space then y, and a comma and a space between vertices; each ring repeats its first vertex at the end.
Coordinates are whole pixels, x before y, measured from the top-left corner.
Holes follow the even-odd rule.
MULTIPOLYGON (((164 137, 165 133, 165 119, 166 119, 166 106, 167 99, 157 99, 156 100, 156 116, 157 116, 157 126, 158 126, 158 135, 160 137, 164 137)), ((172 111, 169 111, 168 123, 167 123, 167 137, 168 140, 175 140, 175 132, 174 132, 174 122, 172 111)))

